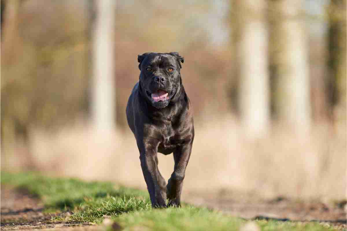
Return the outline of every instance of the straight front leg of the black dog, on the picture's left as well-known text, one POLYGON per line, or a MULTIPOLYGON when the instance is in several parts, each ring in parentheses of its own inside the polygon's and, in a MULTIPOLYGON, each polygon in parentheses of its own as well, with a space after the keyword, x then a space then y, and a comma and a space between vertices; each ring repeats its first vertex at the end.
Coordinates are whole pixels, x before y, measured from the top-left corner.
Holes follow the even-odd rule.
POLYGON ((140 150, 141 168, 150 194, 152 207, 166 207, 166 199, 163 198, 158 184, 159 176, 156 169, 156 155, 156 150, 144 145, 143 149, 140 150))

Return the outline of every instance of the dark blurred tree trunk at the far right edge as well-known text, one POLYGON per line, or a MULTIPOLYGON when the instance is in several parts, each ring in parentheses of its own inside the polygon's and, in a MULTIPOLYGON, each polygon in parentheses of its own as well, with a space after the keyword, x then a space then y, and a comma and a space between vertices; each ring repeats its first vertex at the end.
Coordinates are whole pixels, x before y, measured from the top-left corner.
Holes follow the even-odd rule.
POLYGON ((346 120, 346 0, 331 0, 329 10, 329 101, 334 118, 346 120))

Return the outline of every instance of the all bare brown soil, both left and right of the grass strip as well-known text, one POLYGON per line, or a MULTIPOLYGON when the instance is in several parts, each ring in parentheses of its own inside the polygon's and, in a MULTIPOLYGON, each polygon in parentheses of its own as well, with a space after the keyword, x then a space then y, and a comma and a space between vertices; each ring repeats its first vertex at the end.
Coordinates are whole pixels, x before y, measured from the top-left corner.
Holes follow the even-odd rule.
MULTIPOLYGON (((318 201, 295 201, 282 197, 272 200, 257 199, 252 195, 232 193, 186 194, 185 201, 194 205, 207 206, 227 214, 245 219, 277 219, 292 221, 319 221, 329 223, 337 229, 346 227, 346 201, 322 203, 318 201)), ((51 217, 68 213, 42 213, 40 199, 23 190, 1 186, 1 229, 2 230, 98 230, 89 223, 52 222, 51 217)))

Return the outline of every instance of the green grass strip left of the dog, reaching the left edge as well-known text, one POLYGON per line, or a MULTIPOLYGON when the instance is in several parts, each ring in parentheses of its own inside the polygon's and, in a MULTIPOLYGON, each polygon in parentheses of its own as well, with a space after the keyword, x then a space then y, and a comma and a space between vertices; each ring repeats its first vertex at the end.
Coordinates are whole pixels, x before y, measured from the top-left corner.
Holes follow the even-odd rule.
POLYGON ((74 211, 70 219, 75 222, 99 223, 103 215, 117 216, 151 208, 147 192, 109 182, 85 182, 74 178, 44 177, 35 173, 1 172, 1 184, 14 185, 42 198, 47 211, 74 211))

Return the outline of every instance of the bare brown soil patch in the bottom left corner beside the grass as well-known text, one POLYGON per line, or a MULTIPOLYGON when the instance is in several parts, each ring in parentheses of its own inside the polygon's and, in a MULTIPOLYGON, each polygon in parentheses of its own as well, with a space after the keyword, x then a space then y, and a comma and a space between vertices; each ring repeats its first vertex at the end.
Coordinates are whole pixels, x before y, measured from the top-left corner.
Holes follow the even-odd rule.
POLYGON ((52 216, 64 217, 67 214, 43 213, 43 204, 39 198, 24 190, 15 190, 8 185, 1 185, 0 205, 1 230, 63 228, 76 225, 88 225, 90 230, 89 227, 91 227, 89 223, 52 222, 52 216))

